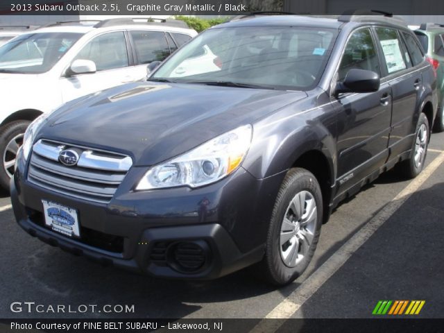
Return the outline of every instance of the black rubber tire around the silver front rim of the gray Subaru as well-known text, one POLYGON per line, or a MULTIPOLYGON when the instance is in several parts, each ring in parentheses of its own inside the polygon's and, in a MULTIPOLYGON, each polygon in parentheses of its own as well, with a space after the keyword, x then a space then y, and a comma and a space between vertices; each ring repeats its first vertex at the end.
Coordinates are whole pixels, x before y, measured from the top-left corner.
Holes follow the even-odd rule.
MULTIPOLYGON (((306 209, 308 207, 305 199, 304 202, 306 209)), ((303 214, 305 214, 305 209, 303 214)), ((295 217, 295 220, 296 219, 297 217, 295 217)), ((262 259, 262 262, 257 265, 257 268, 259 268, 259 271, 261 272, 261 277, 267 282, 278 286, 284 286, 298 278, 305 271, 314 255, 314 250, 316 250, 319 240, 319 234, 321 233, 322 219, 323 198, 321 187, 319 187, 318 181, 314 175, 301 168, 289 170, 275 200, 275 207, 268 228, 264 259, 262 259), (284 246, 280 244, 280 241, 282 240, 281 235, 283 234, 281 229, 284 228, 284 216, 289 216, 288 213, 291 212, 291 201, 293 198, 298 198, 298 195, 301 193, 304 194, 304 198, 307 198, 307 196, 309 197, 307 192, 311 194, 310 198, 314 199, 314 202, 316 203, 316 219, 311 219, 312 222, 310 223, 310 234, 313 238, 311 239, 309 246, 305 247, 306 253, 302 259, 300 259, 300 262, 297 263, 297 259, 295 259, 294 262, 296 262, 296 266, 289 266, 284 262, 284 256, 282 255, 282 250, 287 243, 285 243, 284 246)), ((287 221, 289 220, 287 219, 287 221)), ((302 228, 303 227, 297 227, 299 231, 302 231, 302 228)), ((299 248, 301 239, 291 239, 288 241, 288 244, 291 244, 292 240, 298 244, 299 248)), ((289 248, 289 246, 287 248, 289 248)), ((296 257, 298 256, 298 253, 296 253, 296 257)), ((293 259, 290 260, 293 261, 293 259)))

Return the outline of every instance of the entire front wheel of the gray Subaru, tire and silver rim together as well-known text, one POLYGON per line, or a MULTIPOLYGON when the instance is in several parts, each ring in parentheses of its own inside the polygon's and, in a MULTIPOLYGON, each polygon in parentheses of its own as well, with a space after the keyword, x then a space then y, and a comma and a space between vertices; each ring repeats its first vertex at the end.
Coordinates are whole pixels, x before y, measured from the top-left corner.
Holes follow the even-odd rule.
POLYGON ((284 286, 305 271, 318 244, 322 219, 323 198, 316 177, 305 169, 291 169, 276 198, 259 263, 268 282, 284 286))

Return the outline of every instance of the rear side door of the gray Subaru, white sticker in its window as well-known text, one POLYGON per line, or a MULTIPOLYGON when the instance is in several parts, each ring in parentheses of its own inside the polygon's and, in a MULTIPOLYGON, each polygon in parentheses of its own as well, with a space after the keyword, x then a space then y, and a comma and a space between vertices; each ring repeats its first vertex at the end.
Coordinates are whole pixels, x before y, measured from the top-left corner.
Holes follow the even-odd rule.
POLYGON ((393 112, 388 146, 391 147, 391 157, 396 157, 411 148, 418 121, 414 116, 422 87, 421 66, 411 59, 400 31, 379 26, 375 27, 375 33, 383 56, 383 80, 392 88, 393 112))

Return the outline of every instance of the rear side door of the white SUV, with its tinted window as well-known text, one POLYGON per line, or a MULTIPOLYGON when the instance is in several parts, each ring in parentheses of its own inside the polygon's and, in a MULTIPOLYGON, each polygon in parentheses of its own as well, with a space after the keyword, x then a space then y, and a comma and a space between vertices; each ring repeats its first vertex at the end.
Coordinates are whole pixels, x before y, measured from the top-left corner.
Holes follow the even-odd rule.
POLYGON ((171 37, 163 31, 128 31, 128 33, 135 54, 135 66, 131 69, 135 80, 146 78, 148 64, 165 60, 177 49, 171 37))

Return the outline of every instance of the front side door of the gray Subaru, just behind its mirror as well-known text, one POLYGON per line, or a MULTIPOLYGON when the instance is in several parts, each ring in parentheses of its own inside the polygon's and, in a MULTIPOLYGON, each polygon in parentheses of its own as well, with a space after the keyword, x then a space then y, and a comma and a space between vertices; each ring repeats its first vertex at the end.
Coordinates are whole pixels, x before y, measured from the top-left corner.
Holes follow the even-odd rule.
MULTIPOLYGON (((379 56, 370 28, 350 35, 337 80, 350 69, 366 69, 380 75, 379 56)), ((333 97, 338 114, 339 189, 347 189, 384 164, 391 121, 391 87, 382 83, 377 92, 347 93, 333 97)))

